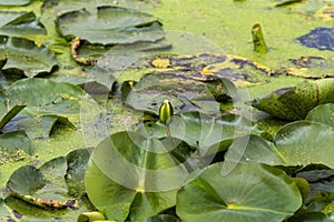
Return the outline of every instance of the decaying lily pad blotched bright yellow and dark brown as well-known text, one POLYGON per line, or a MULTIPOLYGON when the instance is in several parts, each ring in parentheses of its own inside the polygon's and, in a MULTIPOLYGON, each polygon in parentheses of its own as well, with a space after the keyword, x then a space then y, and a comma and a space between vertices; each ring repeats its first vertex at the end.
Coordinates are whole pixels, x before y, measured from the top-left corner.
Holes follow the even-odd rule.
POLYGON ((146 69, 146 73, 160 72, 185 75, 188 79, 204 82, 228 79, 237 87, 266 83, 273 73, 271 68, 247 58, 219 53, 151 56, 139 60, 129 69, 146 69))

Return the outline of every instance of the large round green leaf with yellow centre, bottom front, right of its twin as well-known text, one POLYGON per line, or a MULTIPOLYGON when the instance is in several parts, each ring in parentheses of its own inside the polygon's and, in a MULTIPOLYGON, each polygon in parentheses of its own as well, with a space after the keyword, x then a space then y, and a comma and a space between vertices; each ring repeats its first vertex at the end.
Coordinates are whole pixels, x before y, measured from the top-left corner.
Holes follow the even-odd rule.
POLYGON ((284 171, 244 163, 222 175, 223 164, 210 165, 178 192, 176 211, 183 221, 279 222, 302 205, 284 171))

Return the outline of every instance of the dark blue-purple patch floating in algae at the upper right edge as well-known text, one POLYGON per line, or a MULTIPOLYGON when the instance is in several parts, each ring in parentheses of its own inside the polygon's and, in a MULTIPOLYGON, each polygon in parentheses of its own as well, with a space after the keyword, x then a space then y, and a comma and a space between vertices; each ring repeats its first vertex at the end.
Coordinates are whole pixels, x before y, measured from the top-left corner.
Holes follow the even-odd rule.
POLYGON ((334 28, 318 27, 297 40, 305 47, 334 51, 334 28))

